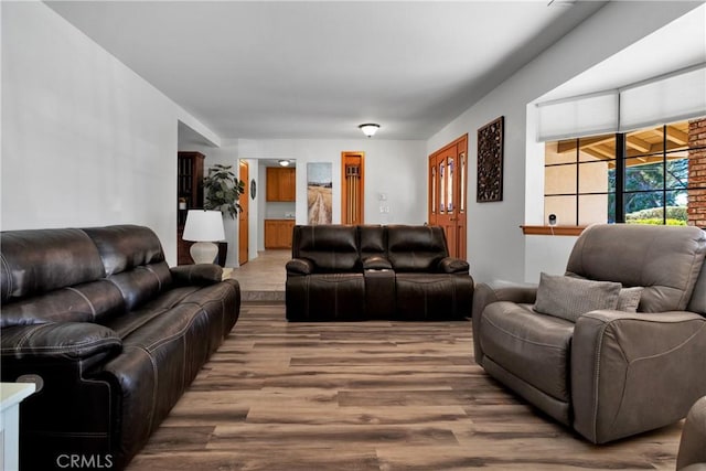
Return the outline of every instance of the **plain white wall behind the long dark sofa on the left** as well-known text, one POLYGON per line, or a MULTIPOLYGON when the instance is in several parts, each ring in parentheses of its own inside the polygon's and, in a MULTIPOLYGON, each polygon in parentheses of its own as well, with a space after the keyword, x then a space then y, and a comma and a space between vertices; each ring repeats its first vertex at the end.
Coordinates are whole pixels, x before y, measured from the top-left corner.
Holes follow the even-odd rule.
POLYGON ((193 117, 42 2, 1 2, 3 231, 142 224, 176 261, 176 128, 193 117))

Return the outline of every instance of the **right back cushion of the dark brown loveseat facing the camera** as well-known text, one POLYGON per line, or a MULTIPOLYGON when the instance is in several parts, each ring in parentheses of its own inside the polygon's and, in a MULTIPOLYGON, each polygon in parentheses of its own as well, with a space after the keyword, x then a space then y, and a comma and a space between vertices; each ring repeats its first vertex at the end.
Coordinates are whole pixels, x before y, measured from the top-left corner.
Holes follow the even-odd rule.
POLYGON ((447 257, 446 236, 439 226, 387 226, 387 251, 395 271, 438 272, 447 257))

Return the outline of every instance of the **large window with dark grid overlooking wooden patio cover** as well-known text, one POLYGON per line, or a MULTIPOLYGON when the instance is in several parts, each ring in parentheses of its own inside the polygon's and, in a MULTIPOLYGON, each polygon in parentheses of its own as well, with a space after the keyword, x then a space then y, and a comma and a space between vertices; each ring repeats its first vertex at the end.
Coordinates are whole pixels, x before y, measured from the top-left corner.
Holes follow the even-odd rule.
POLYGON ((692 142, 689 121, 546 142, 545 221, 686 225, 689 204, 698 204, 689 194, 706 189, 698 170, 689 179, 689 156, 706 149, 692 142))

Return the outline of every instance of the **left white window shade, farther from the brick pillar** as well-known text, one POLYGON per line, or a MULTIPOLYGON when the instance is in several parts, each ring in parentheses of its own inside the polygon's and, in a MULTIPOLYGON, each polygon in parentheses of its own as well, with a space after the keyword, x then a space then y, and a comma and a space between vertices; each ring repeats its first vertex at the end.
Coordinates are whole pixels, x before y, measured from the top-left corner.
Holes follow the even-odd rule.
POLYGON ((618 92, 537 104, 537 140, 595 136, 618 130, 618 92))

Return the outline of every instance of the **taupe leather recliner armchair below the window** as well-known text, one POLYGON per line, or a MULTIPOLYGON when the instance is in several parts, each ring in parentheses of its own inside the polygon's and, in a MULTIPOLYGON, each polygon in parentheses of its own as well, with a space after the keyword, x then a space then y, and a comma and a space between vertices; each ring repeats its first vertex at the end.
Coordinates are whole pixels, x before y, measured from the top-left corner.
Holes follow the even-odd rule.
POLYGON ((706 394, 705 254, 696 227, 589 226, 568 278, 643 287, 637 312, 592 310, 574 322, 536 311, 542 286, 479 285, 475 362, 595 443, 676 422, 706 394))

